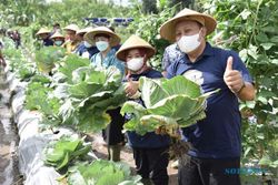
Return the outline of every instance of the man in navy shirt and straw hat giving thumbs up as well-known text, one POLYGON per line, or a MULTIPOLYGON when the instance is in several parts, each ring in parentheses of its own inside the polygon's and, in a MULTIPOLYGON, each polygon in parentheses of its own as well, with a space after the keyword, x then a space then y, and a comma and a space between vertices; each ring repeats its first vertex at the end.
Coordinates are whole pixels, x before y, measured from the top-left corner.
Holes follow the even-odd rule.
POLYGON ((185 56, 171 63, 167 76, 185 75, 200 84, 203 92, 220 89, 207 101, 206 119, 182 129, 191 143, 189 161, 179 165, 179 184, 239 185, 239 174, 227 171, 240 168, 240 112, 238 99, 255 99, 251 76, 234 51, 211 47, 206 42, 217 25, 205 13, 183 9, 160 27, 160 35, 177 42, 185 56), (212 177, 210 179, 210 177, 212 177))

